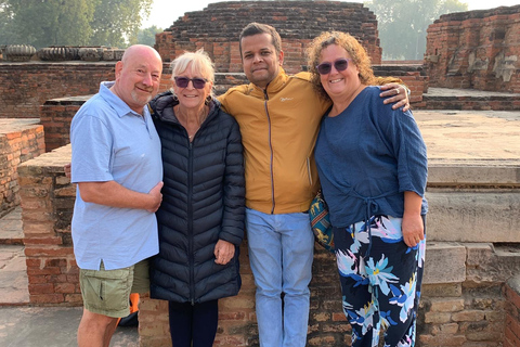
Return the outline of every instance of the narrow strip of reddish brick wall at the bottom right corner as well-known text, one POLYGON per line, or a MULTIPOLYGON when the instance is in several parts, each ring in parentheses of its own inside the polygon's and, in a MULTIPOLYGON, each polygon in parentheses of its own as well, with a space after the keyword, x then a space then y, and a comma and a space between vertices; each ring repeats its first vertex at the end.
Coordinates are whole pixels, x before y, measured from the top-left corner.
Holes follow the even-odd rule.
POLYGON ((520 275, 510 279, 506 285, 507 317, 504 347, 520 346, 520 275))

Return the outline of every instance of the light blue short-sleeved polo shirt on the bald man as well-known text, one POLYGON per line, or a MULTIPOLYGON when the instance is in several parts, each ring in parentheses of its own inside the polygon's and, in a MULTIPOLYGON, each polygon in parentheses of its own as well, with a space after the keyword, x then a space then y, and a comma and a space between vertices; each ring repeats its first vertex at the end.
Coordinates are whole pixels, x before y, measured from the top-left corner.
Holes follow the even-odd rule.
MULTIPOLYGON (((147 107, 133 112, 102 82, 70 125, 72 182, 116 181, 147 193, 162 180, 160 140, 147 107)), ((145 209, 86 203, 76 189, 73 242, 81 269, 120 269, 158 253, 157 220, 145 209)))

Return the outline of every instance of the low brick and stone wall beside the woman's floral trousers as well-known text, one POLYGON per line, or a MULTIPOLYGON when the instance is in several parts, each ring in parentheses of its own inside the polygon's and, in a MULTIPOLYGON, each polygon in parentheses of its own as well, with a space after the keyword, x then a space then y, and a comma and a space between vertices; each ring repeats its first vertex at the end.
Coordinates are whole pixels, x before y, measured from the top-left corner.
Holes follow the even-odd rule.
POLYGON ((502 346, 506 307, 503 292, 505 281, 520 266, 518 250, 515 259, 507 259, 503 249, 486 243, 429 243, 428 247, 417 321, 418 345, 502 346), (495 272, 503 267, 509 270, 495 272))

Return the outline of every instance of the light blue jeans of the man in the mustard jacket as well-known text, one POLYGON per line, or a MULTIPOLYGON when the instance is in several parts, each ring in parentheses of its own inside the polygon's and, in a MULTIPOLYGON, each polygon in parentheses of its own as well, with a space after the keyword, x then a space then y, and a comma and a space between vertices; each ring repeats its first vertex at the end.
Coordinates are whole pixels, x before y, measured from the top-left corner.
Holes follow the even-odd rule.
POLYGON ((314 250, 309 215, 268 215, 248 208, 246 229, 260 346, 303 347, 314 250))

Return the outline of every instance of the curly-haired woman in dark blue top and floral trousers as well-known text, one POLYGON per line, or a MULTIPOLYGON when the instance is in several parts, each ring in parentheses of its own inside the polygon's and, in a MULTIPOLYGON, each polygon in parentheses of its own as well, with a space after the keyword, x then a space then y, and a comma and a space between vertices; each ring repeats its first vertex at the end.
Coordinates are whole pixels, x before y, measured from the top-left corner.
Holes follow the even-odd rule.
POLYGON ((379 98, 370 61, 344 33, 309 48, 316 90, 333 102, 315 156, 330 210, 352 346, 414 346, 425 257, 426 145, 410 111, 379 98))

